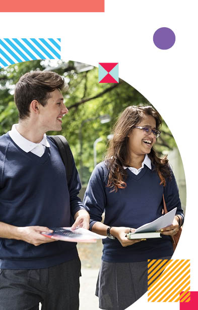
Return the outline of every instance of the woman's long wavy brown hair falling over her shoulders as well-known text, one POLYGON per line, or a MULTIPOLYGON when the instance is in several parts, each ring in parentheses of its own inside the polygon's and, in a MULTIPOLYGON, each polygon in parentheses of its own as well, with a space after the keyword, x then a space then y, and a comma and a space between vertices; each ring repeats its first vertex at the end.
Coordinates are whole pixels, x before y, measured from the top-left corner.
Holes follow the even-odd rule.
MULTIPOLYGON (((118 188, 126 187, 127 173, 123 166, 126 166, 126 158, 129 158, 128 135, 134 126, 138 125, 145 115, 151 115, 156 121, 156 129, 159 130, 162 119, 159 113, 151 106, 130 106, 127 107, 113 127, 113 138, 109 142, 109 148, 105 158, 105 163, 109 170, 108 187, 112 187, 112 191, 118 188)), ((168 166, 167 156, 159 158, 156 151, 152 147, 148 154, 154 169, 157 170, 160 184, 166 185, 166 177, 171 177, 168 166)))

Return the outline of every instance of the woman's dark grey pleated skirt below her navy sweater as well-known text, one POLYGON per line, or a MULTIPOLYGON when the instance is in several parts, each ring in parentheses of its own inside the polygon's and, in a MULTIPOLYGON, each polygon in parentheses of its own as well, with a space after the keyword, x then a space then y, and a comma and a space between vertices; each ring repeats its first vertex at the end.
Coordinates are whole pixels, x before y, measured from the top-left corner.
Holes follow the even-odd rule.
MULTIPOLYGON (((161 257, 171 259, 171 256, 161 257)), ((138 300, 148 289, 148 262, 101 262, 96 285, 99 308, 124 310, 138 300)))

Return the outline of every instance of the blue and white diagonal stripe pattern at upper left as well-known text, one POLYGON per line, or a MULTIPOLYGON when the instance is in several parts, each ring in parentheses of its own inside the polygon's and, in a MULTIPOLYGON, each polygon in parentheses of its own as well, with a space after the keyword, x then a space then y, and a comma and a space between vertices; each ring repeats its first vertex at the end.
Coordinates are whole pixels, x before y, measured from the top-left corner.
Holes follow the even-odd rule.
POLYGON ((0 39, 0 68, 38 59, 60 59, 60 39, 0 39))

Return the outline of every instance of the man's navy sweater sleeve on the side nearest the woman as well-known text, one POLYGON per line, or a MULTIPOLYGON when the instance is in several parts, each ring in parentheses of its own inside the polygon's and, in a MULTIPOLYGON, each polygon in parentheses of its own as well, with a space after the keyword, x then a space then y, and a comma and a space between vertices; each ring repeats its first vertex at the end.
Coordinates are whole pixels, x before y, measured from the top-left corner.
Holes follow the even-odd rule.
POLYGON ((72 178, 70 180, 68 188, 70 193, 71 214, 74 217, 79 210, 84 209, 81 198, 78 197, 79 191, 81 190, 81 181, 74 158, 72 158, 72 178))

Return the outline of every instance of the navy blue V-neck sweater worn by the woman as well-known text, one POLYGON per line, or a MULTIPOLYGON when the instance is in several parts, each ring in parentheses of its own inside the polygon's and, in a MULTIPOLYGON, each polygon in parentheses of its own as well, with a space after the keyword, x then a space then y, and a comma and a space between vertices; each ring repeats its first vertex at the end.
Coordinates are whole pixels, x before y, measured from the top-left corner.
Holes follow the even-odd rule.
MULTIPOLYGON (((138 175, 127 169, 126 188, 117 192, 111 192, 107 182, 108 170, 102 162, 91 175, 83 201, 90 213, 90 229, 97 221, 101 222, 103 212, 104 224, 108 226, 138 228, 156 220, 162 216, 163 191, 167 210, 177 207, 176 214, 183 215, 173 174, 171 180, 166 180, 165 188, 160 185, 157 172, 147 166, 138 175)), ((122 247, 117 239, 103 239, 103 244, 102 260, 106 262, 142 262, 173 254, 170 236, 147 239, 126 247, 122 247)))

